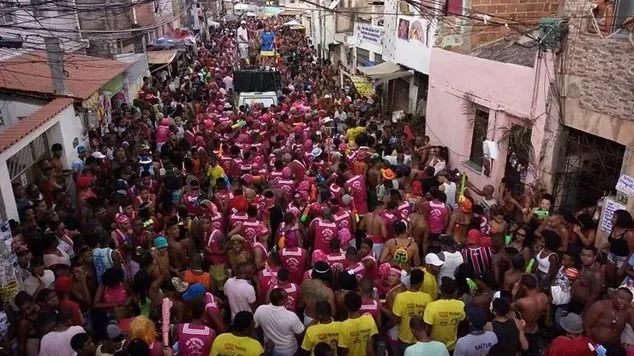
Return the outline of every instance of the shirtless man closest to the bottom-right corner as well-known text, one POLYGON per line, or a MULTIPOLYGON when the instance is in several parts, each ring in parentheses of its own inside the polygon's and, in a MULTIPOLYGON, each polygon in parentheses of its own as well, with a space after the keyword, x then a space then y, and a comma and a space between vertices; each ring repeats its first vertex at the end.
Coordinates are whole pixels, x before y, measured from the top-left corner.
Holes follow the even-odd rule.
POLYGON ((621 287, 610 299, 594 302, 583 317, 586 336, 601 345, 618 345, 625 324, 634 325, 632 292, 621 287))

